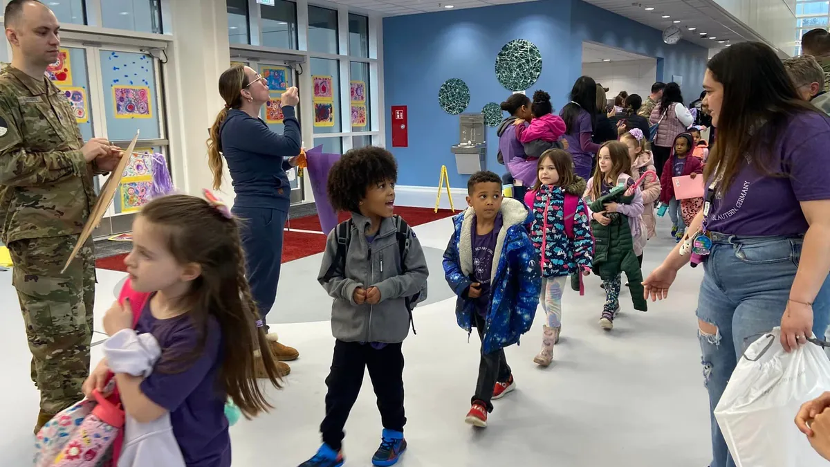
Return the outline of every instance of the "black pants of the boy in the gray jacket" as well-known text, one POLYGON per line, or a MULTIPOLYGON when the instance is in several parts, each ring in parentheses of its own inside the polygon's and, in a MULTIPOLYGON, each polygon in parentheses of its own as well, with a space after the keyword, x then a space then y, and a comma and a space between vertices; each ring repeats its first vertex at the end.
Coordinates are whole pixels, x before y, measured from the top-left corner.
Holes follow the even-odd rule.
POLYGON ((325 418, 320 424, 323 442, 333 450, 343 445, 343 427, 349 411, 357 401, 363 386, 364 372, 369 368, 374 393, 378 396, 378 410, 383 428, 403 431, 407 417, 403 415, 403 353, 402 344, 387 344, 375 349, 359 342, 334 343, 334 357, 329 377, 325 379, 329 392, 325 395, 325 418))

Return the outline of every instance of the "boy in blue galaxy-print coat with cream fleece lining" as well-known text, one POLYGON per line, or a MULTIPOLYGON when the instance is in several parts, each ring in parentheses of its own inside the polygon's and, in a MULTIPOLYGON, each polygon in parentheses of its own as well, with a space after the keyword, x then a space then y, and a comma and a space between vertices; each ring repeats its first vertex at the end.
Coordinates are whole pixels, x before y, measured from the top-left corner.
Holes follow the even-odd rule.
POLYGON ((467 204, 453 218, 455 232, 444 252, 444 274, 456 292, 458 325, 481 338, 476 393, 466 422, 485 427, 492 399, 515 389, 504 347, 533 325, 539 304, 540 268, 527 236, 527 209, 501 198, 501 178, 477 172, 467 182, 467 204))

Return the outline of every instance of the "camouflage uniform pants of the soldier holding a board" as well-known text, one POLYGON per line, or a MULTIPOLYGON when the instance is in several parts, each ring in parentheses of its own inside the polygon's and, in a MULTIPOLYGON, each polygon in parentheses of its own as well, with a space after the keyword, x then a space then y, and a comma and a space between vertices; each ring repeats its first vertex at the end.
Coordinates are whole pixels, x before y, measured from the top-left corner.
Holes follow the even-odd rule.
POLYGON ((32 351, 32 381, 41 391, 41 410, 49 414, 83 399, 81 385, 90 372, 95 305, 92 240, 61 273, 77 238, 27 238, 7 245, 14 263, 12 283, 32 351))

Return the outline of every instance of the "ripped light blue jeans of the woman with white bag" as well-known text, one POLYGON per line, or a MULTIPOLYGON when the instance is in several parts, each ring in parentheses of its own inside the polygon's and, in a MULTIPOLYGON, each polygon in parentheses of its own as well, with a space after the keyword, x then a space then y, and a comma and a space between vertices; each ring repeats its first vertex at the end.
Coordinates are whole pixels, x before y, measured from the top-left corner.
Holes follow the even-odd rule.
MULTIPOLYGON (((781 325, 803 241, 798 237, 712 236, 714 245, 704 263, 697 304, 703 374, 709 391, 710 467, 735 467, 711 412, 745 348, 764 332, 781 325)), ((825 281, 813 303, 813 333, 823 338, 828 322, 830 286, 825 281)))

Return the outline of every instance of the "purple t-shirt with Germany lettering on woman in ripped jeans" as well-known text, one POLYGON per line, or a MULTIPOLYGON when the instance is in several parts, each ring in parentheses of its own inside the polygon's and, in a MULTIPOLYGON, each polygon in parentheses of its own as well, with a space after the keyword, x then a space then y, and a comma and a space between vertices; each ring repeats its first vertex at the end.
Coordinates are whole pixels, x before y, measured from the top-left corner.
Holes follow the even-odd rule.
POLYGON ((830 118, 817 112, 791 117, 771 165, 784 177, 761 175, 748 162, 720 199, 715 197, 706 229, 743 236, 788 236, 807 232, 799 203, 830 199, 830 118))

